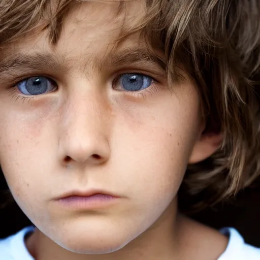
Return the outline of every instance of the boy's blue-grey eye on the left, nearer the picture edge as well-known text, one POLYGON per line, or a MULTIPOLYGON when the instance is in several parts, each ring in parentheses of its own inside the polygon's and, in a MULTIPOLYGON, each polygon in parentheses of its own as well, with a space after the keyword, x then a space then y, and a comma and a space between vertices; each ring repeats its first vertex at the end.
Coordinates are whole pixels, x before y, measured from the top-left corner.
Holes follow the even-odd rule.
POLYGON ((17 88, 24 95, 41 95, 55 90, 57 86, 53 80, 39 76, 20 81, 17 88))

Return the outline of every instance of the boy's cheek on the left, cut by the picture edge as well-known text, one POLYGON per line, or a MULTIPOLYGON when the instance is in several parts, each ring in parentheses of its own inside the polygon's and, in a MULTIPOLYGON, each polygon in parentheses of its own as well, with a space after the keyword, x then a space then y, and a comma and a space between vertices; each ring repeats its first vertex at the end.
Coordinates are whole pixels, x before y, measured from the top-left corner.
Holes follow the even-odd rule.
POLYGON ((23 208, 24 203, 32 203, 31 198, 38 200, 40 176, 44 176, 41 161, 45 158, 47 164, 48 160, 41 140, 51 142, 50 135, 47 136, 43 130, 48 114, 43 117, 41 109, 30 113, 0 109, 0 164, 15 200, 23 208))

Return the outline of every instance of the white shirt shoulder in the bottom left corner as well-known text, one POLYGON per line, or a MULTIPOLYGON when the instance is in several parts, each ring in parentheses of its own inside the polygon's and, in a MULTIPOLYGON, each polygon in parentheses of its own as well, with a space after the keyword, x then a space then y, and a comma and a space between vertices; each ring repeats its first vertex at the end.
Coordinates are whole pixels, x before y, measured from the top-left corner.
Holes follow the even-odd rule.
POLYGON ((0 259, 32 260, 32 257, 29 255, 24 244, 24 237, 26 236, 26 234, 32 231, 34 231, 34 228, 32 226, 29 226, 8 238, 0 239, 0 259))

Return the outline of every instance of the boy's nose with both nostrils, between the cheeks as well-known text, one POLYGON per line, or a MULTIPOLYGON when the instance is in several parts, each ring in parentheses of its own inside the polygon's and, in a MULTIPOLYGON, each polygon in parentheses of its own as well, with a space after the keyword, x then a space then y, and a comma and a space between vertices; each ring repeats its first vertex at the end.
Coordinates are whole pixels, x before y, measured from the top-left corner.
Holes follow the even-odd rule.
POLYGON ((110 157, 108 107, 94 91, 72 93, 62 107, 59 160, 62 165, 97 165, 110 157))

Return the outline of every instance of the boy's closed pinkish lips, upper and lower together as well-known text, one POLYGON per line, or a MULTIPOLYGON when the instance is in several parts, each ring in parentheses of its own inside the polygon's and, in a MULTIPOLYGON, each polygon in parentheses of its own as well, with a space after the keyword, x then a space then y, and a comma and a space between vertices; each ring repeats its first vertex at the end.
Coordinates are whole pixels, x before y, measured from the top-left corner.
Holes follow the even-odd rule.
POLYGON ((61 197, 56 198, 55 201, 67 209, 98 210, 111 207, 119 199, 120 196, 117 194, 100 189, 90 189, 64 193, 61 197))

